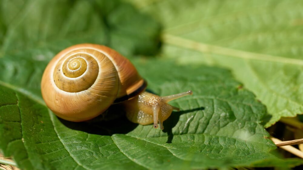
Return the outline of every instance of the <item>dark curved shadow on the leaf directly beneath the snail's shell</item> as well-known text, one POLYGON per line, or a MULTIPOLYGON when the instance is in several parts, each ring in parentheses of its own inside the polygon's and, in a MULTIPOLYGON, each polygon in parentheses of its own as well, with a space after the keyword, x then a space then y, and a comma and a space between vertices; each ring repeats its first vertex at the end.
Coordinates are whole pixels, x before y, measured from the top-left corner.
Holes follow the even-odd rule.
POLYGON ((106 113, 85 122, 70 122, 61 118, 59 120, 70 129, 105 136, 112 136, 115 133, 126 134, 138 126, 130 122, 118 107, 110 107, 106 113))

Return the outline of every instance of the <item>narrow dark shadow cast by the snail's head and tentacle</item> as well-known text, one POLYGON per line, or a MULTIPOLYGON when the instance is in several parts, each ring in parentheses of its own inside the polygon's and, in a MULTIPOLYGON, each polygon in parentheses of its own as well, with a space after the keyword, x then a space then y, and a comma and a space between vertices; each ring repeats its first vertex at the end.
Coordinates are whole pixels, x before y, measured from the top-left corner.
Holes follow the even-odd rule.
POLYGON ((172 133, 172 128, 176 126, 176 124, 178 123, 180 116, 182 114, 190 113, 190 112, 194 112, 194 111, 201 111, 204 109, 205 109, 205 107, 198 107, 198 108, 188 109, 188 110, 184 110, 184 111, 172 112, 171 116, 168 117, 168 119, 163 122, 163 126, 164 126, 163 132, 167 133, 167 136, 168 136, 166 143, 171 143, 172 139, 174 138, 174 135, 172 133))

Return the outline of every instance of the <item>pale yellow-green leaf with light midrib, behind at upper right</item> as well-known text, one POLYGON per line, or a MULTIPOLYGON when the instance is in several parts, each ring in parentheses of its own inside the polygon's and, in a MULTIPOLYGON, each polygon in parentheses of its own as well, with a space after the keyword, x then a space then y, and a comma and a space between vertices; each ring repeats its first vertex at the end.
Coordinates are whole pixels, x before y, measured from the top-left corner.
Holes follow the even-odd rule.
POLYGON ((164 56, 233 71, 272 115, 303 114, 302 1, 129 0, 164 25, 164 56))

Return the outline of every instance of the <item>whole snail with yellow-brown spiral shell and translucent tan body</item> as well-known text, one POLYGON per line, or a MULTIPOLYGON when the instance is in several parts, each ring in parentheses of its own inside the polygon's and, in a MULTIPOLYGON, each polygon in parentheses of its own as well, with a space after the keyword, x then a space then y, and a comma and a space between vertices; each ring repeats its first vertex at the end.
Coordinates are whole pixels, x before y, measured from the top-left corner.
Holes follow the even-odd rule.
POLYGON ((160 97, 145 91, 147 83, 135 66, 109 47, 78 44, 59 52, 46 66, 42 97, 58 117, 81 122, 102 114, 112 104, 125 106, 128 120, 163 129, 177 107, 169 101, 192 91, 160 97))

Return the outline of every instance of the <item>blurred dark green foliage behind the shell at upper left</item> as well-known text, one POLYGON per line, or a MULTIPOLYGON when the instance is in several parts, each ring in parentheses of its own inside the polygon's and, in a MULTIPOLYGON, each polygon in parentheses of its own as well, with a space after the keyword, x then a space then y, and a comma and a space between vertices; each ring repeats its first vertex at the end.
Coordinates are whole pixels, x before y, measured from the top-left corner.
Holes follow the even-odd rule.
POLYGON ((160 24, 120 0, 1 1, 1 55, 97 43, 124 55, 158 53, 160 24))

